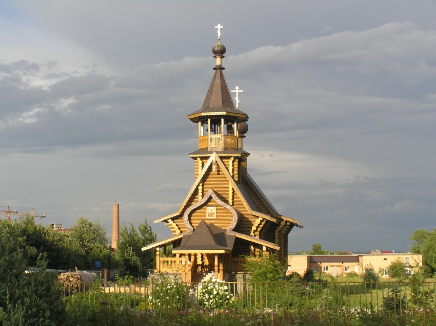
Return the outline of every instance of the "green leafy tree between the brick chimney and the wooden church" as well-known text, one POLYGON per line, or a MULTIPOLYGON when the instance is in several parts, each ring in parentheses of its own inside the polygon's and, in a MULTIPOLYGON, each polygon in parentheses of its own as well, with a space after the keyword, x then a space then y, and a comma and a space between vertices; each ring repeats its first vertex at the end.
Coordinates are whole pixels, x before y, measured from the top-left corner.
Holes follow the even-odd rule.
POLYGON ((154 268, 156 255, 153 250, 142 251, 142 248, 156 241, 156 234, 151 227, 140 221, 139 233, 133 224, 127 229, 123 222, 120 229, 120 242, 117 245, 116 257, 120 262, 123 273, 134 277, 147 277, 148 270, 154 268))

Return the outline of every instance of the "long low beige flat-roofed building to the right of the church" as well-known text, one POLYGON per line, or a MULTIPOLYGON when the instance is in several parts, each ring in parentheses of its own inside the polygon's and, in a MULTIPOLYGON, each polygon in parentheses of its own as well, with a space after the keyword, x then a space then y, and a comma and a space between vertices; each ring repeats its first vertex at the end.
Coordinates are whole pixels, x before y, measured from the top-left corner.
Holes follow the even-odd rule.
POLYGON ((422 266, 422 254, 415 253, 369 253, 358 255, 290 255, 288 256, 287 274, 297 272, 304 275, 307 269, 315 273, 333 276, 347 275, 354 272, 362 274, 366 266, 372 266, 382 277, 389 277, 389 265, 397 259, 404 262, 408 274, 422 266))

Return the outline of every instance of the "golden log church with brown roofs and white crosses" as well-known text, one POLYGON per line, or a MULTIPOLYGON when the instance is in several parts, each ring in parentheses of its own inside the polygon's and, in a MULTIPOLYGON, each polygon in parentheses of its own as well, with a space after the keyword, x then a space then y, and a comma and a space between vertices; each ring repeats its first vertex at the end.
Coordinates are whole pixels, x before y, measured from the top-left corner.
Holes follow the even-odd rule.
POLYGON ((180 274, 186 282, 212 276, 227 281, 244 271, 247 256, 273 255, 287 264, 288 234, 300 227, 275 210, 248 174, 250 154, 243 149, 248 116, 237 108, 242 92, 237 87, 233 104, 223 74, 222 26, 215 28, 215 73, 203 106, 188 115, 198 124, 198 150, 189 154, 195 182, 179 210, 154 221, 166 223, 172 236, 143 248, 156 250, 156 272, 180 274))

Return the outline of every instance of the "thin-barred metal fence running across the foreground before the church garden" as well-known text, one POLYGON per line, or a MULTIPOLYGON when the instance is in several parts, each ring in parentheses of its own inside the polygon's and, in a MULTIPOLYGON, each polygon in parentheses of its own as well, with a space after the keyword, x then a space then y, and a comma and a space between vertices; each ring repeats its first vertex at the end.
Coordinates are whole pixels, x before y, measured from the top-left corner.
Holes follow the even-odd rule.
POLYGON ((434 314, 436 282, 204 282, 157 279, 134 284, 81 284, 64 289, 68 300, 169 312, 295 312, 352 315, 364 311, 434 314))

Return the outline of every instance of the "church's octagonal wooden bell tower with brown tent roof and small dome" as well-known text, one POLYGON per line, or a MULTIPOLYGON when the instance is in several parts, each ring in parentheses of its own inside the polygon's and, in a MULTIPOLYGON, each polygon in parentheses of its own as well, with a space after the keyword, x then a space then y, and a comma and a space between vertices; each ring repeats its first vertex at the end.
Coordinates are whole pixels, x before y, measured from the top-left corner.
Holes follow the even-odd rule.
MULTIPOLYGON (((196 160, 196 173, 215 152, 222 159, 230 159, 232 170, 241 171, 247 168, 247 157, 250 155, 243 149, 243 139, 248 131, 248 115, 235 108, 224 78, 222 59, 226 47, 221 43, 221 33, 212 48, 216 60, 215 71, 202 108, 188 115, 189 120, 198 124, 199 147, 189 154, 196 160)), ((229 166, 230 166, 229 165, 229 166)), ((240 173, 234 175, 236 182, 240 173)))

